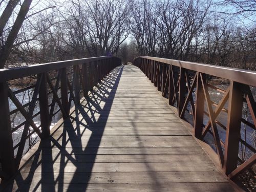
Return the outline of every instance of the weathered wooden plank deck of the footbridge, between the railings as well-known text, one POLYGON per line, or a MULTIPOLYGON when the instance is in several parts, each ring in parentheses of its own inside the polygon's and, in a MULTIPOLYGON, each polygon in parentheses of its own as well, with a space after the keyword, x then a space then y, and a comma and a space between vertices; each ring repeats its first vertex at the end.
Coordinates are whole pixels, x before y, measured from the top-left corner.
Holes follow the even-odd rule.
POLYGON ((7 191, 234 190, 135 66, 112 71, 71 116, 23 158, 7 191))

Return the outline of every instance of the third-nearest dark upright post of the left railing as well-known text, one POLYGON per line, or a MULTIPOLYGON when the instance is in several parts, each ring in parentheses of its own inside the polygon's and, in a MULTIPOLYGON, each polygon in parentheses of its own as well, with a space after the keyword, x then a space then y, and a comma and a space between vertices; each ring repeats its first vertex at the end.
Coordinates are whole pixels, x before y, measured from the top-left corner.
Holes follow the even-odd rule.
POLYGON ((61 103, 63 106, 63 110, 66 114, 62 114, 63 118, 69 117, 69 100, 68 100, 68 79, 67 79, 67 70, 66 68, 61 69, 60 75, 60 92, 61 92, 61 103))

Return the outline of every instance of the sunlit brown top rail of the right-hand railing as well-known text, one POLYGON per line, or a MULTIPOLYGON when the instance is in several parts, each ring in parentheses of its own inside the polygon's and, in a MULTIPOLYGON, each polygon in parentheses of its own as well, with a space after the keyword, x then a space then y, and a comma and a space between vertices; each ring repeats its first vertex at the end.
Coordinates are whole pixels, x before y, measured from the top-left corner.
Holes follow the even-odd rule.
POLYGON ((155 60, 158 62, 163 62, 169 65, 182 67, 188 70, 205 73, 208 75, 229 79, 232 81, 236 81, 243 84, 247 84, 249 86, 256 87, 256 71, 214 66, 214 65, 208 65, 208 64, 197 63, 197 62, 166 59, 166 58, 160 58, 160 57, 149 57, 149 56, 139 56, 139 57, 155 60))

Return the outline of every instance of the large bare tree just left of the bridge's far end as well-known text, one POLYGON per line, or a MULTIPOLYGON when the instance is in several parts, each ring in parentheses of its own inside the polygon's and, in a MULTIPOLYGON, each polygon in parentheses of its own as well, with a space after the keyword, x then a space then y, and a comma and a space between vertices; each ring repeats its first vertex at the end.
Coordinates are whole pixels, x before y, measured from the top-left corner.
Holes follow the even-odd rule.
POLYGON ((118 51, 130 31, 129 5, 129 1, 121 0, 87 1, 88 38, 95 54, 110 55, 118 51))

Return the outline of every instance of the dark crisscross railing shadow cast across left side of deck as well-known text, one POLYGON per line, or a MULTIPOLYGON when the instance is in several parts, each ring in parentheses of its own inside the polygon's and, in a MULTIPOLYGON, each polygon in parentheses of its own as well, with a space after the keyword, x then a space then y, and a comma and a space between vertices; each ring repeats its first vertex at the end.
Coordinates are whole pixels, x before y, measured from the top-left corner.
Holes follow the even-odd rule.
POLYGON ((70 118, 65 119, 49 138, 39 141, 38 150, 30 162, 30 169, 26 170, 28 173, 19 172, 15 179, 9 182, 6 191, 12 191, 13 184, 17 185, 19 191, 71 191, 74 187, 72 184, 69 184, 68 188, 63 188, 68 162, 76 168, 69 183, 75 185, 74 183, 79 183, 82 179, 83 185, 79 185, 79 190, 86 191, 122 70, 123 67, 115 68, 88 97, 74 106, 70 118), (102 102, 103 108, 100 105, 102 102), (83 146, 82 136, 86 131, 90 131, 91 135, 88 136, 86 146, 83 146), (59 163, 56 163, 57 159, 59 163), (32 187, 33 177, 40 166, 40 182, 32 187), (38 188, 40 186, 41 188, 38 188))

